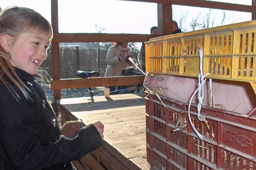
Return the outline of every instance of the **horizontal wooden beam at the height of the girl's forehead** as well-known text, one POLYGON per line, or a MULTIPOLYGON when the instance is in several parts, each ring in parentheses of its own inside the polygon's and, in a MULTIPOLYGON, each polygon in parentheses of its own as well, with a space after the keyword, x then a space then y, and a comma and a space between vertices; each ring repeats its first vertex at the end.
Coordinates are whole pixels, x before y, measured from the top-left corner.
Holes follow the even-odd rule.
POLYGON ((146 42, 161 35, 150 34, 103 34, 103 33, 54 33, 53 43, 90 42, 146 42))

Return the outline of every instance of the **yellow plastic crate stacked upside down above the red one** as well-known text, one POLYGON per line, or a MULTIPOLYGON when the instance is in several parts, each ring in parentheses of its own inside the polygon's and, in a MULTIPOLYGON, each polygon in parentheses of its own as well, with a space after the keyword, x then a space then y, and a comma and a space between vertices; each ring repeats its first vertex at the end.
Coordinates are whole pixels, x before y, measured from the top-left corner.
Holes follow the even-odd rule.
POLYGON ((199 46, 207 78, 250 82, 256 92, 256 21, 173 34, 146 43, 146 71, 197 77, 199 46))

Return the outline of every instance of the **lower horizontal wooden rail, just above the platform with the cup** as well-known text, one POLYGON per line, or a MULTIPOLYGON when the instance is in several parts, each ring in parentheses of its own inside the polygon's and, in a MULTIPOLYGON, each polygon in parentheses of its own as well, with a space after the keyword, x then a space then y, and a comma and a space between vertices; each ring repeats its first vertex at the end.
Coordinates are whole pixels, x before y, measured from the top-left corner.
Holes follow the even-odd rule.
POLYGON ((101 77, 88 79, 62 79, 51 82, 53 90, 68 88, 108 87, 143 84, 144 75, 124 77, 101 77))

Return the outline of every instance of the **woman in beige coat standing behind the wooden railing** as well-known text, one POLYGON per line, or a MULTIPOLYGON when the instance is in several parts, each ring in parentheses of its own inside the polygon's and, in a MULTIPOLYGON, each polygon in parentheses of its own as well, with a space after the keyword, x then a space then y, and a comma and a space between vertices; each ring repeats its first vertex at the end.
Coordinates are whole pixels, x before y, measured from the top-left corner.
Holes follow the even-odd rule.
MULTIPOLYGON (((129 43, 113 43, 108 50, 106 56, 106 72, 104 77, 117 77, 121 76, 123 68, 134 67, 129 57, 132 58, 131 49, 128 47, 129 43)), ((137 65, 137 60, 132 58, 133 62, 137 65)), ((136 68, 136 67, 135 67, 136 68)), ((110 92, 115 91, 115 86, 110 86, 110 92)))

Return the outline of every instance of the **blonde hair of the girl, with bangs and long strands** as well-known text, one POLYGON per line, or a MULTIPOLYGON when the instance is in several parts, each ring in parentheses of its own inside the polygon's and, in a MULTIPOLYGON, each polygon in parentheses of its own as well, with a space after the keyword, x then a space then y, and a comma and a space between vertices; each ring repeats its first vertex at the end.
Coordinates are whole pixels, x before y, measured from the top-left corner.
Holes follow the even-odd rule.
MULTIPOLYGON (((12 37, 11 46, 15 43, 18 36, 22 33, 46 34, 48 37, 53 36, 53 29, 47 19, 34 10, 26 7, 10 6, 0 13, 0 36, 9 35, 12 37)), ((6 74, 9 79, 23 92, 26 98, 26 85, 19 79, 10 62, 10 55, 0 46, 0 81, 15 96, 20 98, 17 92, 13 90, 11 85, 5 80, 6 74)))

